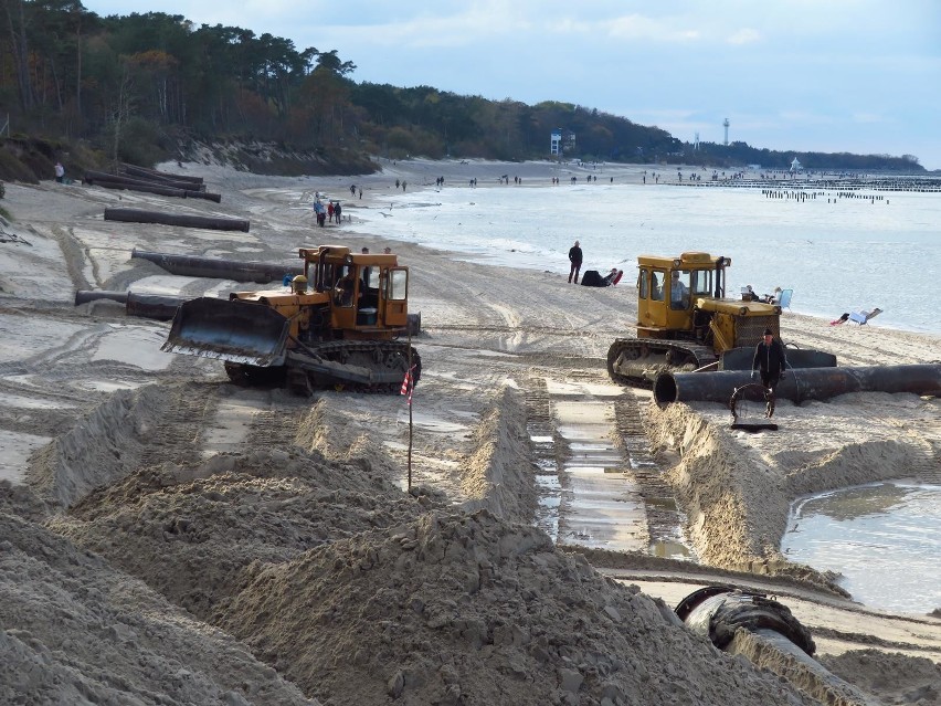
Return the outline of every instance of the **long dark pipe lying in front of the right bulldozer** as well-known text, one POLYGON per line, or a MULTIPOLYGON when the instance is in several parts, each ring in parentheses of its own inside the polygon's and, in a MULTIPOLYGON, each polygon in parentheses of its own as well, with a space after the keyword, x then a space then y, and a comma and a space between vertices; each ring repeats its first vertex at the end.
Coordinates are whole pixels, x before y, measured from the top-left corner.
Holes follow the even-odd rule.
MULTIPOLYGON (((662 372, 654 381, 654 400, 657 404, 728 403, 737 388, 752 381, 748 370, 662 372)), ((778 399, 791 400, 797 404, 806 400, 828 400, 847 392, 913 392, 941 396, 941 363, 795 368, 786 371, 774 390, 778 399)))

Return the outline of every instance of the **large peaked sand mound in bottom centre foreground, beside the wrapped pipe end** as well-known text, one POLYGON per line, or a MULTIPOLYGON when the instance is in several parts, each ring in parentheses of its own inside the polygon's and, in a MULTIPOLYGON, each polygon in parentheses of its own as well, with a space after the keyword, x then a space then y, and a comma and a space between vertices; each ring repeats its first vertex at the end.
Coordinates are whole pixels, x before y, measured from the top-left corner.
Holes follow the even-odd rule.
POLYGON ((801 703, 662 601, 487 510, 256 565, 219 624, 337 704, 801 703))

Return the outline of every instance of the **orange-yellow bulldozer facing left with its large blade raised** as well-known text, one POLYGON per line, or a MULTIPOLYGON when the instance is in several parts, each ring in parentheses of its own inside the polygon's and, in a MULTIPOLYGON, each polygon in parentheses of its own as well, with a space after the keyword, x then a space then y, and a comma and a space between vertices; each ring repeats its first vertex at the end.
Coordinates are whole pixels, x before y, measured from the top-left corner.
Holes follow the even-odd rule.
POLYGON ((218 358, 237 384, 398 392, 421 358, 405 340, 409 268, 394 254, 300 247, 304 273, 282 286, 200 297, 177 309, 162 350, 218 358))

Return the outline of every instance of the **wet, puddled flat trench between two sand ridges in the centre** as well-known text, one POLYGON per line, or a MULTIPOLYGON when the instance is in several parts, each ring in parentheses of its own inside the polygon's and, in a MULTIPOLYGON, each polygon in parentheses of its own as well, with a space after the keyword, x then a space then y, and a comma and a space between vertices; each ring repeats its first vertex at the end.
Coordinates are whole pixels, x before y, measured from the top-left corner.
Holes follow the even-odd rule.
POLYGON ((537 525, 561 545, 690 558, 672 493, 651 483, 660 468, 633 394, 611 384, 553 380, 528 391, 537 525))

